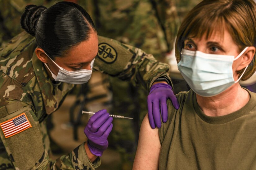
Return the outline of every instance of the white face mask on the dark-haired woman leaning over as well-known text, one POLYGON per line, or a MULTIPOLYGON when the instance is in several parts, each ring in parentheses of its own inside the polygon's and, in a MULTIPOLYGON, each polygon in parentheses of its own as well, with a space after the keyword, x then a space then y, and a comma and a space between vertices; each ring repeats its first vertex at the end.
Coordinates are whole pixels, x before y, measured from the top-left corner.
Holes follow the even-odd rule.
MULTIPOLYGON (((49 57, 49 56, 47 55, 47 57, 49 57)), ((52 60, 52 59, 50 58, 50 60, 52 60)), ((95 58, 90 63, 91 69, 93 67, 94 60, 95 60, 95 58)), ((92 70, 81 69, 81 70, 77 70, 77 71, 68 71, 68 70, 65 70, 64 68, 58 66, 53 60, 52 60, 52 62, 60 69, 57 76, 52 73, 52 71, 49 69, 47 64, 44 63, 44 65, 51 72, 52 78, 55 79, 55 81, 60 81, 60 82, 65 82, 65 83, 70 83, 70 84, 83 84, 83 83, 87 83, 89 81, 89 79, 91 78, 92 70)))

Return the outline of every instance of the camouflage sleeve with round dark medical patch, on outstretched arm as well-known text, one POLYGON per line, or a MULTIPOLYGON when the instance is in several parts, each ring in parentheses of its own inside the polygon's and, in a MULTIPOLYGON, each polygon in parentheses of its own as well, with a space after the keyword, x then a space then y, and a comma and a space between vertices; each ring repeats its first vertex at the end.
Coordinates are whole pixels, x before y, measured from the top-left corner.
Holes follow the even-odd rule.
POLYGON ((172 85, 168 64, 158 62, 151 54, 117 40, 99 36, 99 52, 94 63, 94 69, 131 81, 134 86, 142 85, 148 90, 159 77, 167 78, 172 85))

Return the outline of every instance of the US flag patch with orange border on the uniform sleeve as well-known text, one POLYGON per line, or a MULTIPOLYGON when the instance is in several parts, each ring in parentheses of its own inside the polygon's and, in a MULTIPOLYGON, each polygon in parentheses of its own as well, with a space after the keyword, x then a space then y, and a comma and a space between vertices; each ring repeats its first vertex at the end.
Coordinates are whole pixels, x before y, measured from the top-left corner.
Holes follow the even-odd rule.
POLYGON ((0 123, 0 126, 5 138, 9 138, 32 127, 25 113, 21 113, 19 116, 0 123))

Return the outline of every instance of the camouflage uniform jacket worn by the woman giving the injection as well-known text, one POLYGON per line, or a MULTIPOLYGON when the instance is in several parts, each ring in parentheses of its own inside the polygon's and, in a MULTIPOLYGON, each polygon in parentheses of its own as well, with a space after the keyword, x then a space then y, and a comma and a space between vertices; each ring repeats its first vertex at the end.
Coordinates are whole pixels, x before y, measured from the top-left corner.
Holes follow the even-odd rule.
MULTIPOLYGON (((22 32, 0 49, 0 169, 95 169, 100 159, 92 164, 84 143, 57 160, 49 158, 44 119, 56 111, 74 85, 52 82, 34 53, 36 47, 35 38, 22 32), (23 131, 5 130, 10 120, 22 122, 22 118, 28 122, 23 131)), ((94 69, 147 89, 159 76, 169 79, 167 64, 101 36, 94 69)))

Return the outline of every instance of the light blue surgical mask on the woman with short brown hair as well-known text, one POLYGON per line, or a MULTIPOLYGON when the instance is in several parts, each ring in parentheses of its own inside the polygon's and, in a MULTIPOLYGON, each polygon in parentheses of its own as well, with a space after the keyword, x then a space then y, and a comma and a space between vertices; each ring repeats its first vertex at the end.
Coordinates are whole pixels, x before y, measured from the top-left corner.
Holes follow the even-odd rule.
POLYGON ((216 96, 242 78, 248 66, 235 81, 232 65, 246 49, 248 47, 237 57, 182 49, 178 69, 196 94, 204 97, 216 96))

